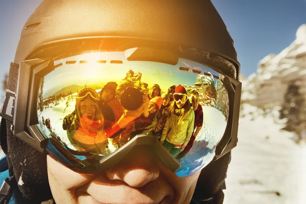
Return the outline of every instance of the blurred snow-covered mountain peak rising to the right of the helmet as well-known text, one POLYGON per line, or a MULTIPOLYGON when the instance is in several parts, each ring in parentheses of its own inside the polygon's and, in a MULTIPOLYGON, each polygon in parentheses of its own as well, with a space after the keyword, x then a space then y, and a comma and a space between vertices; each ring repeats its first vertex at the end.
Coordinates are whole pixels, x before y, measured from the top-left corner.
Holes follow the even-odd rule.
POLYGON ((306 24, 298 28, 296 39, 287 48, 266 56, 257 73, 242 79, 242 103, 263 109, 281 106, 290 81, 296 81, 306 95, 306 24))

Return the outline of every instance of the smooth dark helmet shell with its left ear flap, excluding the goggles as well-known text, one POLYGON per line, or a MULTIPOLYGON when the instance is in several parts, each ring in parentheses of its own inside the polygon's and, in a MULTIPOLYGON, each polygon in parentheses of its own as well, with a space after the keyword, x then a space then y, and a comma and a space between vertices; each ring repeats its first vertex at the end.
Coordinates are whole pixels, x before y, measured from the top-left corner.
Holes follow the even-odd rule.
MULTIPOLYGON (((209 0, 44 0, 22 29, 14 64, 78 50, 137 46, 169 49, 219 67, 235 79, 239 76, 233 40, 209 0)), ((11 126, 7 121, 7 138, 1 140, 3 144, 7 139, 15 177, 22 175, 19 189, 29 199, 50 198, 46 155, 14 137, 11 126)))

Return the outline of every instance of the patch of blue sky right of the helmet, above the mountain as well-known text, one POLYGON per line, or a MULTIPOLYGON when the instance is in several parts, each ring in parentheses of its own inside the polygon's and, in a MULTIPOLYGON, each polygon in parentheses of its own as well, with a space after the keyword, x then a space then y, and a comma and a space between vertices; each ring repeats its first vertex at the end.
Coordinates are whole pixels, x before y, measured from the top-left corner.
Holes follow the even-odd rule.
POLYGON ((212 0, 235 41, 241 73, 256 72, 258 62, 278 54, 306 23, 306 0, 212 0))

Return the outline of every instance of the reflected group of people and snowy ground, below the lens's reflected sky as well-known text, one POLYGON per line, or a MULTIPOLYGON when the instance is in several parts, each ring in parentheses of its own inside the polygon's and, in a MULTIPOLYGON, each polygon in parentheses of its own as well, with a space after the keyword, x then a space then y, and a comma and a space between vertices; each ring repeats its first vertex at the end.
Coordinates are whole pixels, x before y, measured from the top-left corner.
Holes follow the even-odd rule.
POLYGON ((183 82, 164 89, 142 82, 142 74, 129 70, 118 81, 70 84, 53 94, 44 93, 47 79, 42 79, 40 131, 72 154, 108 156, 139 134, 155 136, 177 160, 203 149, 212 152, 227 122, 228 97, 222 74, 193 73, 189 85, 183 82), (126 116, 137 117, 129 120, 126 116), (224 122, 211 124, 210 120, 220 121, 214 117, 222 117, 224 122), (122 121, 124 126, 114 129, 122 121), (222 129, 218 138, 210 134, 214 128, 222 129))

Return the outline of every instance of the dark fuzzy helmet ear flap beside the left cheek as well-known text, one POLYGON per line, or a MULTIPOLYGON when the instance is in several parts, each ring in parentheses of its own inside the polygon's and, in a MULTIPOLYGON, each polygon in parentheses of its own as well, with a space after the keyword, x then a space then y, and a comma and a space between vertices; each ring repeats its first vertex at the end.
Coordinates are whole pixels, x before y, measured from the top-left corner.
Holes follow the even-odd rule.
POLYGON ((7 159, 10 161, 9 165, 13 166, 19 190, 25 198, 33 202, 51 199, 46 154, 42 154, 15 137, 11 125, 11 121, 2 119, 1 143, 7 141, 7 159), (6 127, 6 135, 4 135, 4 127, 6 127))

